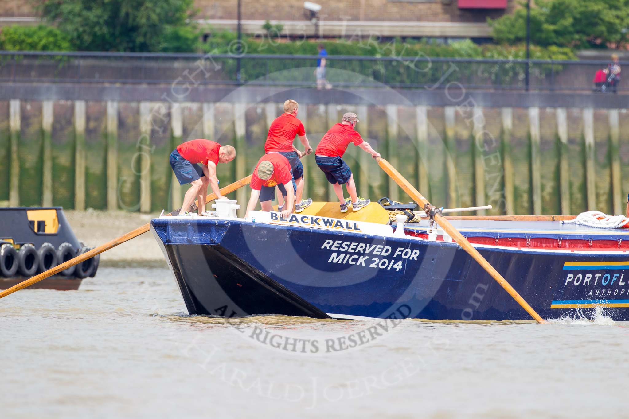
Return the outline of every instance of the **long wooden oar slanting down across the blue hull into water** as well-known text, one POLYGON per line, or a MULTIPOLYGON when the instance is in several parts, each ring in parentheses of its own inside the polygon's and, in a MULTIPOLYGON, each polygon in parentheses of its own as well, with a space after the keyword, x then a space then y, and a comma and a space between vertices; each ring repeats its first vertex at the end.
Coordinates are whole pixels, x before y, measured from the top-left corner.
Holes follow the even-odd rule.
MULTIPOLYGON (((404 192, 408 193, 409 197, 414 199, 418 204, 430 205, 430 202, 428 202, 428 200, 425 199, 423 195, 421 195, 421 193, 418 192, 418 190, 416 190, 413 185, 408 182, 408 180, 400 175, 399 172, 393 166, 391 166, 391 163, 384 160, 383 158, 376 158, 376 160, 378 161, 378 164, 380 165, 382 170, 386 171, 387 175, 389 175, 396 183, 398 183, 398 185, 404 190, 404 192)), ((489 275, 491 275, 491 277, 494 278, 494 280, 496 280, 496 282, 498 282, 500 286, 502 286, 504 290, 506 290, 509 295, 511 295, 511 297, 513 297, 513 299, 516 300, 516 302, 518 302, 518 304, 520 304, 520 306, 531 315, 531 317, 535 318, 538 323, 546 323, 545 320, 540 317, 540 315, 538 315, 535 310, 533 310, 533 307, 528 305, 524 298, 522 298, 520 294, 518 294, 518 291, 514 290, 513 286, 509 285, 509 283, 503 278, 503 276, 500 275, 498 271, 496 271, 496 269, 491 266, 491 264, 487 262, 485 258, 482 257, 482 255, 476 250, 476 248, 474 248, 474 246, 472 246, 472 244, 470 244, 470 242, 467 241, 467 239, 465 239, 465 237, 463 237, 463 235, 460 234, 460 232, 455 229, 452 224, 450 224, 450 222, 445 219, 443 215, 435 214, 435 221, 437 222, 437 224, 439 224, 439 226, 441 226, 443 231, 447 232, 450 237, 452 237, 452 239, 457 242, 457 244, 459 244, 459 246, 461 246, 467 253, 469 253, 470 256, 472 256, 472 258, 474 258, 482 266, 482 268, 485 269, 487 273, 489 273, 489 275)))

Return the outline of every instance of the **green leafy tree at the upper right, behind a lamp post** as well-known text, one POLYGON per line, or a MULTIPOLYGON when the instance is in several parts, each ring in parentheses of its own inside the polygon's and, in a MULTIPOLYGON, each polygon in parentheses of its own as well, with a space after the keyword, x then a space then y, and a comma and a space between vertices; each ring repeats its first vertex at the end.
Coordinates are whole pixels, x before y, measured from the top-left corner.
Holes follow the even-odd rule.
MULTIPOLYGON (((621 46, 627 41, 629 0, 535 0, 531 7, 531 41, 573 48, 621 46)), ((526 3, 515 13, 487 19, 494 39, 515 44, 526 39, 526 3)))

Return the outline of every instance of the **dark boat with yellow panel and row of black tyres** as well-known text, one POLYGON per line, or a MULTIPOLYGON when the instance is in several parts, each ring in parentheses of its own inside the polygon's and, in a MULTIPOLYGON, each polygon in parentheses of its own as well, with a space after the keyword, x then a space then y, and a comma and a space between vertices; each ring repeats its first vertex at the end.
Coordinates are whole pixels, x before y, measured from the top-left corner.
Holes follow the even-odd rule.
MULTIPOLYGON (((0 207, 0 289, 69 261, 86 248, 70 228, 62 207, 0 207)), ((77 290, 96 275, 99 256, 30 286, 77 290)))

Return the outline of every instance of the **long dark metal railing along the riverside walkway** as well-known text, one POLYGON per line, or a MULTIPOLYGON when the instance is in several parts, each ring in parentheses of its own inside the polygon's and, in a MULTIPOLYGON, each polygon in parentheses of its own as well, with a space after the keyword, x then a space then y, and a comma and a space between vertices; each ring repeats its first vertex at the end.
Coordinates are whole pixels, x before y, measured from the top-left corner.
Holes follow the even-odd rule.
MULTIPOLYGON (((0 82, 315 87, 315 55, 0 52, 0 82), (240 82, 237 67, 240 61, 240 82)), ((328 56, 334 87, 525 90, 526 60, 328 56)), ((590 91, 608 62, 529 60, 530 90, 590 91)), ((621 65, 629 63, 620 63, 621 65)), ((627 88, 619 85, 619 92, 627 88)))

